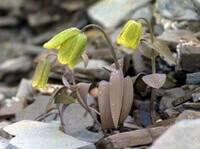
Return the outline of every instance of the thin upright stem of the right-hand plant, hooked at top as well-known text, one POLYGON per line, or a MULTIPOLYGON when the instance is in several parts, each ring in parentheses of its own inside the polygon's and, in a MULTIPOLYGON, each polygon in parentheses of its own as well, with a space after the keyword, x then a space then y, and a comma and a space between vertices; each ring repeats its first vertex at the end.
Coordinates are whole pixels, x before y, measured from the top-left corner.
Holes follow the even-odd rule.
MULTIPOLYGON (((152 30, 152 27, 151 27, 151 24, 149 23, 149 21, 145 18, 138 18, 138 20, 144 20, 145 23, 147 24, 148 28, 149 28, 149 31, 150 31, 150 36, 151 36, 151 43, 153 44, 154 43, 154 34, 153 34, 153 30, 152 30)), ((156 54, 156 52, 153 50, 154 52, 154 55, 156 54)), ((151 59, 151 68, 152 68, 152 74, 155 74, 156 73, 156 58, 152 58, 151 59)), ((156 93, 155 93, 155 88, 152 88, 151 90, 151 98, 150 98, 150 116, 151 116, 151 121, 152 123, 154 124, 155 123, 155 117, 154 117, 154 102, 156 100, 156 93)))

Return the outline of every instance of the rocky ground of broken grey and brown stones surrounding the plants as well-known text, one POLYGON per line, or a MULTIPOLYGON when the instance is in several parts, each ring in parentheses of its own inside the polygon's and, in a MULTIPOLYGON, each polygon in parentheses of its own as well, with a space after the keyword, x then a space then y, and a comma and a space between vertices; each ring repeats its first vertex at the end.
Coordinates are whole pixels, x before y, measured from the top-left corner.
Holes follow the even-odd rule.
MULTIPOLYGON (((0 0, 0 149, 200 148, 199 10, 198 0, 0 0), (154 124, 151 92, 141 79, 143 73, 151 73, 150 60, 115 42, 125 22, 139 17, 151 22, 154 35, 168 44, 177 60, 176 66, 162 56, 156 60, 157 72, 167 79, 156 90, 154 124), (57 110, 45 118, 46 123, 40 116, 56 88, 63 86, 62 74, 69 72, 55 62, 44 90, 33 88, 31 79, 37 62, 54 52, 45 50, 44 42, 66 28, 91 23, 109 33, 117 57, 128 66, 125 75, 136 80, 133 106, 122 127, 104 133, 79 104, 71 104, 63 114, 64 134, 59 131, 57 110)), ((143 25, 143 33, 149 32, 143 25)), ((75 78, 92 83, 87 100, 98 111, 99 82, 109 80, 103 67, 113 59, 101 34, 94 30, 86 34, 89 64, 85 69, 80 61, 75 78)))

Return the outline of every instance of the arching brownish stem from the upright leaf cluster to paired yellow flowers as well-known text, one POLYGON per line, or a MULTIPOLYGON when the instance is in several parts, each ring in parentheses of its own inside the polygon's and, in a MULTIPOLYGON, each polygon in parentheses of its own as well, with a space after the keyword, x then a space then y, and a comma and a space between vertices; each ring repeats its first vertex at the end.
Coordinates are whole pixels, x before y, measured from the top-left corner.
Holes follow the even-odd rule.
POLYGON ((105 37, 106 41, 108 42, 109 46, 110 46, 110 51, 112 53, 112 56, 113 56, 113 60, 115 62, 115 67, 116 69, 118 70, 120 68, 119 66, 119 63, 118 63, 118 60, 117 60, 117 56, 116 56, 116 53, 115 53, 115 50, 114 50, 114 47, 112 45, 112 42, 111 42, 111 39, 110 37, 108 36, 108 34, 98 25, 96 24, 89 24, 89 25, 86 25, 82 30, 81 32, 85 32, 86 29, 88 28, 95 28, 95 29, 98 29, 102 34, 103 36, 105 37))

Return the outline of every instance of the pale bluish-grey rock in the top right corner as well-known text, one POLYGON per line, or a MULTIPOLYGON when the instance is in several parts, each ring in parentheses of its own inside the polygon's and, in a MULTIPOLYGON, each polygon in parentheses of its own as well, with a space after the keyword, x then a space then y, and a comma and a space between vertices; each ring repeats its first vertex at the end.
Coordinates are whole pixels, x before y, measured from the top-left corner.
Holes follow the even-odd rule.
POLYGON ((172 20, 200 20, 199 0, 156 1, 159 13, 172 20))

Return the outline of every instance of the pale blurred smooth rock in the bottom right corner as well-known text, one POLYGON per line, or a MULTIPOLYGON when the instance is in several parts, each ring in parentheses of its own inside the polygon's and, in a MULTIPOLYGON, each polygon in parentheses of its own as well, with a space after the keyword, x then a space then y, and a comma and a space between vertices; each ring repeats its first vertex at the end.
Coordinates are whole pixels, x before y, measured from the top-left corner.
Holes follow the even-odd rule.
POLYGON ((150 149, 199 149, 200 119, 183 120, 171 126, 150 149))

